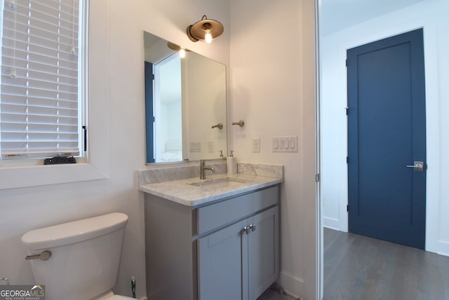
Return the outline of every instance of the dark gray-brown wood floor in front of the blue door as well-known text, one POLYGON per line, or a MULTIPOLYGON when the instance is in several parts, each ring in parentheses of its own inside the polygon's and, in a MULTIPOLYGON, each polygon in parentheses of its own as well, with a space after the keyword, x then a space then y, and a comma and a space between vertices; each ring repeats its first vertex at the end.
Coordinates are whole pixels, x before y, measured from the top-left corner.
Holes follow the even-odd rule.
POLYGON ((449 257, 324 229, 325 300, 449 300, 449 257))

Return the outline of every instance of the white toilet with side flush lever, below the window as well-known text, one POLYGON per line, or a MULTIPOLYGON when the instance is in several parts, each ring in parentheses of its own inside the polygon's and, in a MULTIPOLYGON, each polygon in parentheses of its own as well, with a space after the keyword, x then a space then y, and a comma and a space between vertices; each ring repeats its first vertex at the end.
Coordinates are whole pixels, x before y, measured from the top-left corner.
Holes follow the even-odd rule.
POLYGON ((47 300, 133 299, 112 292, 127 223, 114 212, 25 233, 33 283, 45 285, 47 300))

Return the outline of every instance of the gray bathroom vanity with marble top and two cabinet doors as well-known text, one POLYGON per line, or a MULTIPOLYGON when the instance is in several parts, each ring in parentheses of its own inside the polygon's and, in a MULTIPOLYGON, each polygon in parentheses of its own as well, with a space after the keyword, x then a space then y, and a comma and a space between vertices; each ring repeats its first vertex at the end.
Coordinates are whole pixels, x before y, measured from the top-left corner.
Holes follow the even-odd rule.
POLYGON ((257 299, 279 277, 281 182, 219 174, 140 185, 149 299, 257 299))

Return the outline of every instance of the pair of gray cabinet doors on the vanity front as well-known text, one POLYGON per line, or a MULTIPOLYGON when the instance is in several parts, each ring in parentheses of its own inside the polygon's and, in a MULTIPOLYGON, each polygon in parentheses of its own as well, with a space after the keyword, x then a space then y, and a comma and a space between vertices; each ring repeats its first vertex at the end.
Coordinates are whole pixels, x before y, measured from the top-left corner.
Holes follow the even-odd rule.
POLYGON ((255 300, 279 275, 278 207, 198 239, 199 299, 255 300))

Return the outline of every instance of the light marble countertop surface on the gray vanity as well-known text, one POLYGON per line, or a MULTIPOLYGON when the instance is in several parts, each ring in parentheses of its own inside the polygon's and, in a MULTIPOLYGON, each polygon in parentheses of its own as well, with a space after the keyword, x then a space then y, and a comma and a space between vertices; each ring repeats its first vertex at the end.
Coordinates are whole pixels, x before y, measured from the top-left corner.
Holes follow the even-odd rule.
POLYGON ((167 182, 142 184, 139 186, 139 190, 172 200, 182 205, 196 206, 227 198, 229 196, 236 196, 240 193, 274 186, 283 182, 283 177, 267 177, 248 174, 208 175, 206 181, 210 179, 219 179, 218 181, 220 181, 220 179, 225 177, 231 177, 236 182, 233 182, 234 185, 232 186, 213 186, 208 184, 194 186, 192 183, 196 184, 197 182, 201 182, 199 177, 194 177, 167 182))

